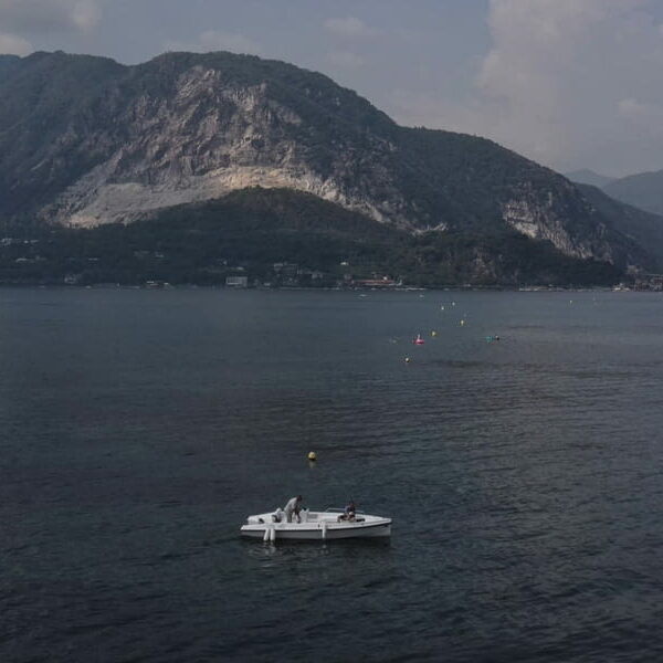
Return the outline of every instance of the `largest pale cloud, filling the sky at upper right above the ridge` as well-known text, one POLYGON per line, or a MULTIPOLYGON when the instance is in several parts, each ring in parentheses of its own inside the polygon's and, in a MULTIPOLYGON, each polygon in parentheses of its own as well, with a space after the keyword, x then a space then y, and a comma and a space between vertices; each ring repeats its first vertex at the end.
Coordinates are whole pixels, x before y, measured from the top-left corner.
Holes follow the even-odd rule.
POLYGON ((410 122, 428 116, 561 170, 663 168, 656 2, 491 0, 492 48, 470 98, 402 92, 394 105, 410 122))

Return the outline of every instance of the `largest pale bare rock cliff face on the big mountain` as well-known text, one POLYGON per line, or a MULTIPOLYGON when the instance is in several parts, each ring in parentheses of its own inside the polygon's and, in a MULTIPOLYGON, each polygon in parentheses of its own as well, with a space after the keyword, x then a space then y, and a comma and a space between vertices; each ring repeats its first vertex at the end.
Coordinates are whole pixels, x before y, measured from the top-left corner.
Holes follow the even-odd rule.
MULTIPOLYGON (((316 169, 295 137, 302 117, 271 99, 266 83, 228 85, 219 72, 193 66, 178 76, 171 98, 141 96, 117 119, 127 127, 127 140, 45 207, 46 218, 73 225, 130 221, 261 186, 315 193, 379 221, 409 222, 393 182, 389 200, 375 200, 364 182, 344 186, 351 146, 340 147, 329 176, 316 169)), ((112 136, 102 133, 96 140, 110 145, 112 136)), ((379 152, 373 156, 378 169, 379 152)))

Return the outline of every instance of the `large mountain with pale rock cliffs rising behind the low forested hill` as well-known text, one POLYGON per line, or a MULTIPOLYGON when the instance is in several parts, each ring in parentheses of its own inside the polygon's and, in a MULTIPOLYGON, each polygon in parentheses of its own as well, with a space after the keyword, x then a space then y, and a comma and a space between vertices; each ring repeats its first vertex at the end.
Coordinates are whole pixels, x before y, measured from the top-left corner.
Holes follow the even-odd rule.
POLYGON ((484 138, 400 127, 290 64, 167 53, 124 66, 40 52, 1 66, 4 224, 137 222, 286 188, 410 235, 490 238, 494 249, 515 233, 533 254, 548 242, 560 259, 648 262, 566 178, 484 138))

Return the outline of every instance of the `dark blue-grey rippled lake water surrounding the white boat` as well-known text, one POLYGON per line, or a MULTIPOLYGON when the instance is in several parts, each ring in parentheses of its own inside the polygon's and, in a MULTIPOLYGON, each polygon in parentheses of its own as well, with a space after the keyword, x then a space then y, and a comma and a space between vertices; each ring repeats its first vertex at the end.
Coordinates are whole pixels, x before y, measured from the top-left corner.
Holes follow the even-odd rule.
POLYGON ((0 290, 0 424, 3 663, 663 660, 661 295, 0 290))

